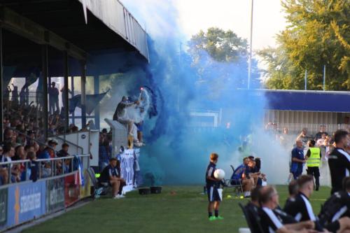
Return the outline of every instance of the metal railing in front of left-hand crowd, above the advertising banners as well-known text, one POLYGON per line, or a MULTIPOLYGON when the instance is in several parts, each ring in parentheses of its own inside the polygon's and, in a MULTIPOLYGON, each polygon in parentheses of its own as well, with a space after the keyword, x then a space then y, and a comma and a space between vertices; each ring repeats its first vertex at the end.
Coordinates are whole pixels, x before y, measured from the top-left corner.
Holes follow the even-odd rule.
MULTIPOLYGON (((74 164, 74 159, 80 158, 80 163, 83 164, 84 169, 90 167, 90 155, 76 155, 67 157, 54 157, 50 159, 39 159, 32 162, 36 162, 38 166, 37 180, 42 178, 67 176, 69 174, 75 174, 78 169, 74 164)), ((0 162, 0 176, 7 174, 7 182, 5 181, 0 188, 5 185, 11 185, 13 183, 20 183, 24 181, 30 181, 29 179, 29 163, 31 160, 15 160, 11 162, 0 162), (24 169, 20 174, 15 174, 15 166, 23 166, 24 169), (23 173, 25 173, 23 177, 23 173), (21 178, 20 181, 12 182, 12 177, 21 178)))

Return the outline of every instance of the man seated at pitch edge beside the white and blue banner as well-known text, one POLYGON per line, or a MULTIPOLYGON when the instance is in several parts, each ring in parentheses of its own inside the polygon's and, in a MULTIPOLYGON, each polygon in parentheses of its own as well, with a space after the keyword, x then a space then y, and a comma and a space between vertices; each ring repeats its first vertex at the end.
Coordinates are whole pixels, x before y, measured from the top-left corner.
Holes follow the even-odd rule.
POLYGON ((105 167, 99 176, 99 183, 108 183, 112 187, 113 197, 115 199, 123 198, 121 183, 123 179, 120 178, 120 172, 117 169, 117 159, 112 157, 109 160, 109 165, 105 167))

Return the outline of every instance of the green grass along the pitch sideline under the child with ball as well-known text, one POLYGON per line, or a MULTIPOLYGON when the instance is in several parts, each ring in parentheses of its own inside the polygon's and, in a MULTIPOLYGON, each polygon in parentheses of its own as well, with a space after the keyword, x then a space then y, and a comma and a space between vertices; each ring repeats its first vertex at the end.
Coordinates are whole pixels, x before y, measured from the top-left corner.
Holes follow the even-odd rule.
MULTIPOLYGON (((288 195, 287 186, 277 185, 276 188, 283 206, 288 195)), ((239 227, 246 227, 238 206, 239 202, 247 202, 246 199, 228 199, 232 190, 224 190, 220 214, 225 219, 209 222, 207 196, 201 195, 201 192, 201 186, 166 186, 160 195, 141 196, 138 192, 129 192, 125 199, 103 197, 23 232, 232 233, 238 232, 239 227)), ((320 211, 321 204, 329 195, 328 187, 314 192, 311 204, 315 213, 320 211)))

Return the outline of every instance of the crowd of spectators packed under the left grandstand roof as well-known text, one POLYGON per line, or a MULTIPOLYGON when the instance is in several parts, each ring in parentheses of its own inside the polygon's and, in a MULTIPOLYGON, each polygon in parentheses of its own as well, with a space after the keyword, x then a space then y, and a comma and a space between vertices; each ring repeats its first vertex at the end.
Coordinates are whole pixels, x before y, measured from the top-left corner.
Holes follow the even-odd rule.
MULTIPOLYGON (((54 83, 50 92, 58 92, 54 83), (52 89, 52 90, 51 90, 52 89), (56 89, 56 90, 55 90, 56 89)), ((52 95, 52 93, 49 95, 52 95)), ((45 178, 55 174, 72 171, 71 160, 57 160, 54 165, 50 162, 36 162, 37 159, 69 156, 69 145, 63 143, 62 149, 57 151, 57 141, 45 141, 43 134, 43 111, 41 98, 36 92, 36 101, 29 103, 29 93, 22 88, 18 94, 18 87, 13 90, 8 87, 3 98, 3 141, 0 144, 0 162, 29 160, 13 164, 0 165, 0 185, 20 181, 45 178), (10 95, 11 93, 11 95, 10 95)), ((58 97, 57 97, 58 98, 58 97)), ((51 98, 52 99, 52 98, 51 98)), ((48 114, 48 135, 58 135, 78 132, 76 125, 64 127, 63 109, 58 109, 58 99, 50 102, 48 114), (52 103, 55 105, 52 108, 52 103)))

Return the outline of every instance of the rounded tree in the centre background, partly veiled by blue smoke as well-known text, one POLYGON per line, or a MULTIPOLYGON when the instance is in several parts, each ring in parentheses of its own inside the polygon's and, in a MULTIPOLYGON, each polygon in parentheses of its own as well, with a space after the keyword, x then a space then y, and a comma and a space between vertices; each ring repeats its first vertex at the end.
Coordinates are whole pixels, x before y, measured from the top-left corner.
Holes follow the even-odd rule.
MULTIPOLYGON (((232 88, 246 87, 248 43, 233 31, 211 27, 188 41, 188 54, 197 72, 197 87, 207 90, 212 99, 223 97, 232 88)), ((253 69, 258 69, 253 61, 253 69)), ((260 85, 254 77, 251 87, 260 85)))

